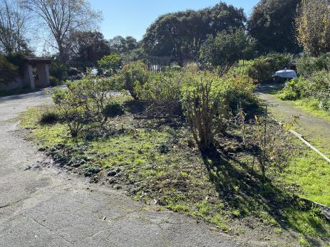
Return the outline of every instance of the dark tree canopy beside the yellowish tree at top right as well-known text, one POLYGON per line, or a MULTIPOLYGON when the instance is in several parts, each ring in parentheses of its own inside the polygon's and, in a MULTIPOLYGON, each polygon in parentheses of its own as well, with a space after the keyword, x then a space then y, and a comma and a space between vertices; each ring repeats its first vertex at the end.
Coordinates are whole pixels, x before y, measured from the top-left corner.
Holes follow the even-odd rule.
POLYGON ((247 30, 257 40, 259 51, 297 53, 294 18, 301 0, 261 0, 247 21, 247 30))

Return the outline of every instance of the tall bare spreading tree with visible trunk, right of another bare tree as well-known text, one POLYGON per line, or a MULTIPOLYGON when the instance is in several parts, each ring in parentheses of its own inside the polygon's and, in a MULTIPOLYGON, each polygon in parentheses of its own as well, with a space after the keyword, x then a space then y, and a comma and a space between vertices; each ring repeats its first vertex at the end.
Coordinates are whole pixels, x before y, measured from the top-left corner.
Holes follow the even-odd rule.
POLYGON ((56 41, 56 48, 63 59, 63 41, 68 33, 93 28, 102 19, 86 0, 22 0, 24 6, 43 25, 56 41))

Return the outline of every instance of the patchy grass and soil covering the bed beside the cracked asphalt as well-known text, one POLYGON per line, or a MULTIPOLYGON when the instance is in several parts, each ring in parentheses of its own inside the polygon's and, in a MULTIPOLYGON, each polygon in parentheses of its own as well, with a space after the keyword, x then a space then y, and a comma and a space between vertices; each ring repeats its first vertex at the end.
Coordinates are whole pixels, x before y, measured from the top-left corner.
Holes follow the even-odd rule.
MULTIPOLYGON (((269 178, 277 179, 263 185, 259 167, 251 171, 250 154, 201 155, 188 146, 192 137, 185 125, 134 120, 126 112, 111 118, 95 138, 86 138, 86 130, 73 140, 61 122, 40 125, 40 114, 40 109, 32 108, 21 115, 21 127, 31 131, 38 147, 67 169, 79 167, 82 175, 89 172, 92 179, 98 176, 103 182, 123 186, 134 199, 195 216, 232 234, 249 235, 249 225, 253 225, 255 231, 267 228, 277 241, 282 238, 275 229, 282 229, 283 234, 294 229, 316 241, 330 237, 329 224, 308 207, 296 205, 288 189, 306 172, 299 164, 290 163, 285 175, 274 173, 269 178)), ((313 193, 316 196, 317 191, 313 193)))

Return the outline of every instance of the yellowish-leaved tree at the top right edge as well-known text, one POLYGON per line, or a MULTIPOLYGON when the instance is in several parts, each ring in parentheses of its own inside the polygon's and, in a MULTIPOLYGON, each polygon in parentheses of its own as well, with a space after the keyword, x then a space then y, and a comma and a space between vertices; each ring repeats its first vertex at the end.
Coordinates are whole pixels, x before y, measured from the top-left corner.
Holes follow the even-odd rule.
POLYGON ((307 53, 319 56, 330 51, 329 0, 302 0, 296 26, 298 42, 307 53))

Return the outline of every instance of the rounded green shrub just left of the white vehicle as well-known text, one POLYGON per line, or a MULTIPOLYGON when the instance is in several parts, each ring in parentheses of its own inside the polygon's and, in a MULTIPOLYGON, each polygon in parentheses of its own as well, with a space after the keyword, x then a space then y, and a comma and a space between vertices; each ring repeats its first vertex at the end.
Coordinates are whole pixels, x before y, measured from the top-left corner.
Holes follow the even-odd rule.
POLYGON ((265 83, 273 80, 273 75, 277 70, 289 68, 292 64, 292 56, 290 54, 269 54, 254 59, 247 74, 259 83, 265 83))

